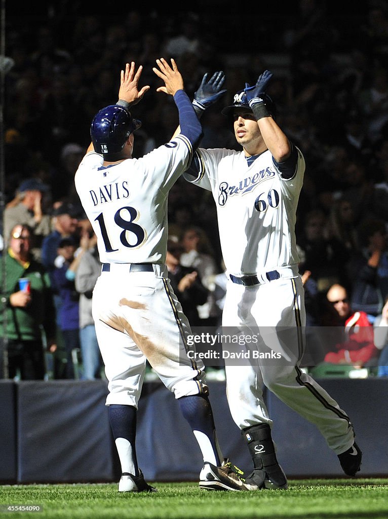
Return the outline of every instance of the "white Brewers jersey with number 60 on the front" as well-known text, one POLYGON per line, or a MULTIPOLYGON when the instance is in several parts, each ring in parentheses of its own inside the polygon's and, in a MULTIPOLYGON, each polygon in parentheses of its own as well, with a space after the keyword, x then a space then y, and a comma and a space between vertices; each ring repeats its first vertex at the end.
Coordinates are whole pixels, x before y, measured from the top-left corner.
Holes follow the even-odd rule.
POLYGON ((202 170, 197 179, 186 178, 213 193, 221 250, 230 274, 260 274, 299 262, 295 223, 305 165, 297 151, 295 175, 286 180, 268 150, 251 166, 243 151, 198 150, 202 170))

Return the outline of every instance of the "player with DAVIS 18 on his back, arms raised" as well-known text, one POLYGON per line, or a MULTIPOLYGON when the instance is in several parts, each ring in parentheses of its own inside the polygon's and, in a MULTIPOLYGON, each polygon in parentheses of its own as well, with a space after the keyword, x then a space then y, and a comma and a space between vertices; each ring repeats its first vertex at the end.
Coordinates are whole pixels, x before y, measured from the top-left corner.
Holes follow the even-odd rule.
POLYGON ((118 490, 151 492, 137 466, 136 410, 146 360, 174 393, 200 446, 204 465, 200 487, 246 490, 218 446, 207 397, 203 363, 187 345, 190 326, 171 289, 167 253, 167 199, 188 167, 202 128, 184 91, 174 60, 163 58, 153 70, 164 81, 157 91, 173 95, 180 133, 142 158, 132 158, 133 132, 141 126, 129 107, 149 86, 138 90, 142 66, 121 71, 119 101, 104 107, 91 124, 92 144, 75 175, 75 186, 98 239, 102 273, 92 297, 92 314, 105 364, 109 420, 122 476, 118 490))

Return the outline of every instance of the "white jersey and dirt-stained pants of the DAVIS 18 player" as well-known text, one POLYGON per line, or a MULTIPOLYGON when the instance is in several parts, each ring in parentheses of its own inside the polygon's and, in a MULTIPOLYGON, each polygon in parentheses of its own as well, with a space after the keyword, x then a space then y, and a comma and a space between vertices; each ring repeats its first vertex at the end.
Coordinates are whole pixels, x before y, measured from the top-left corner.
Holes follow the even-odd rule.
MULTIPOLYGON (((189 353, 189 322, 165 266, 169 189, 187 168, 184 135, 139 159, 103 166, 91 152, 75 175, 77 193, 98 238, 99 276, 92 315, 109 394, 106 404, 137 407, 146 360, 175 398, 206 393, 203 362, 189 353), (129 264, 153 264, 132 271, 129 264)), ((192 349, 192 348, 191 348, 192 349)))

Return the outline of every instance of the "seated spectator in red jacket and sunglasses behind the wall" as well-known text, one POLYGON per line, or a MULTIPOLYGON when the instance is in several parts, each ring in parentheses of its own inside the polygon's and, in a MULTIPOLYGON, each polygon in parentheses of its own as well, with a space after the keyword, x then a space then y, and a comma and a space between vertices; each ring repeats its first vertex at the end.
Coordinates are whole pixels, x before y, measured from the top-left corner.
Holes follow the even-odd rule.
POLYGON ((373 342, 373 326, 365 312, 354 312, 344 286, 330 286, 326 295, 333 309, 333 325, 344 327, 344 338, 326 353, 324 362, 356 367, 376 365, 379 350, 373 342))

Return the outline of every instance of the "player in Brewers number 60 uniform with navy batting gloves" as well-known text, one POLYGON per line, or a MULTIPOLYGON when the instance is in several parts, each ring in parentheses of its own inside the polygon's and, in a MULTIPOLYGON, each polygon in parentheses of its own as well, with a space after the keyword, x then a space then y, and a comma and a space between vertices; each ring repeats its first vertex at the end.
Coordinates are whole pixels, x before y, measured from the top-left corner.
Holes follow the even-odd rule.
MULTIPOLYGON (((217 81, 202 80, 193 105, 200 116, 219 91, 217 81)), ((355 475, 362 453, 348 416, 336 401, 299 368, 306 324, 303 285, 298 272, 295 222, 305 169, 301 151, 289 142, 266 94, 272 73, 235 94, 222 111, 233 124, 242 151, 198 148, 187 180, 211 190, 228 283, 223 335, 234 329, 250 337, 246 346, 257 360, 225 360, 227 397, 254 462, 245 479, 250 489, 287 488, 271 439, 272 420, 263 399, 265 385, 280 400, 321 431, 339 456, 344 472, 355 475)), ((223 344, 223 348, 228 348, 223 344)))

